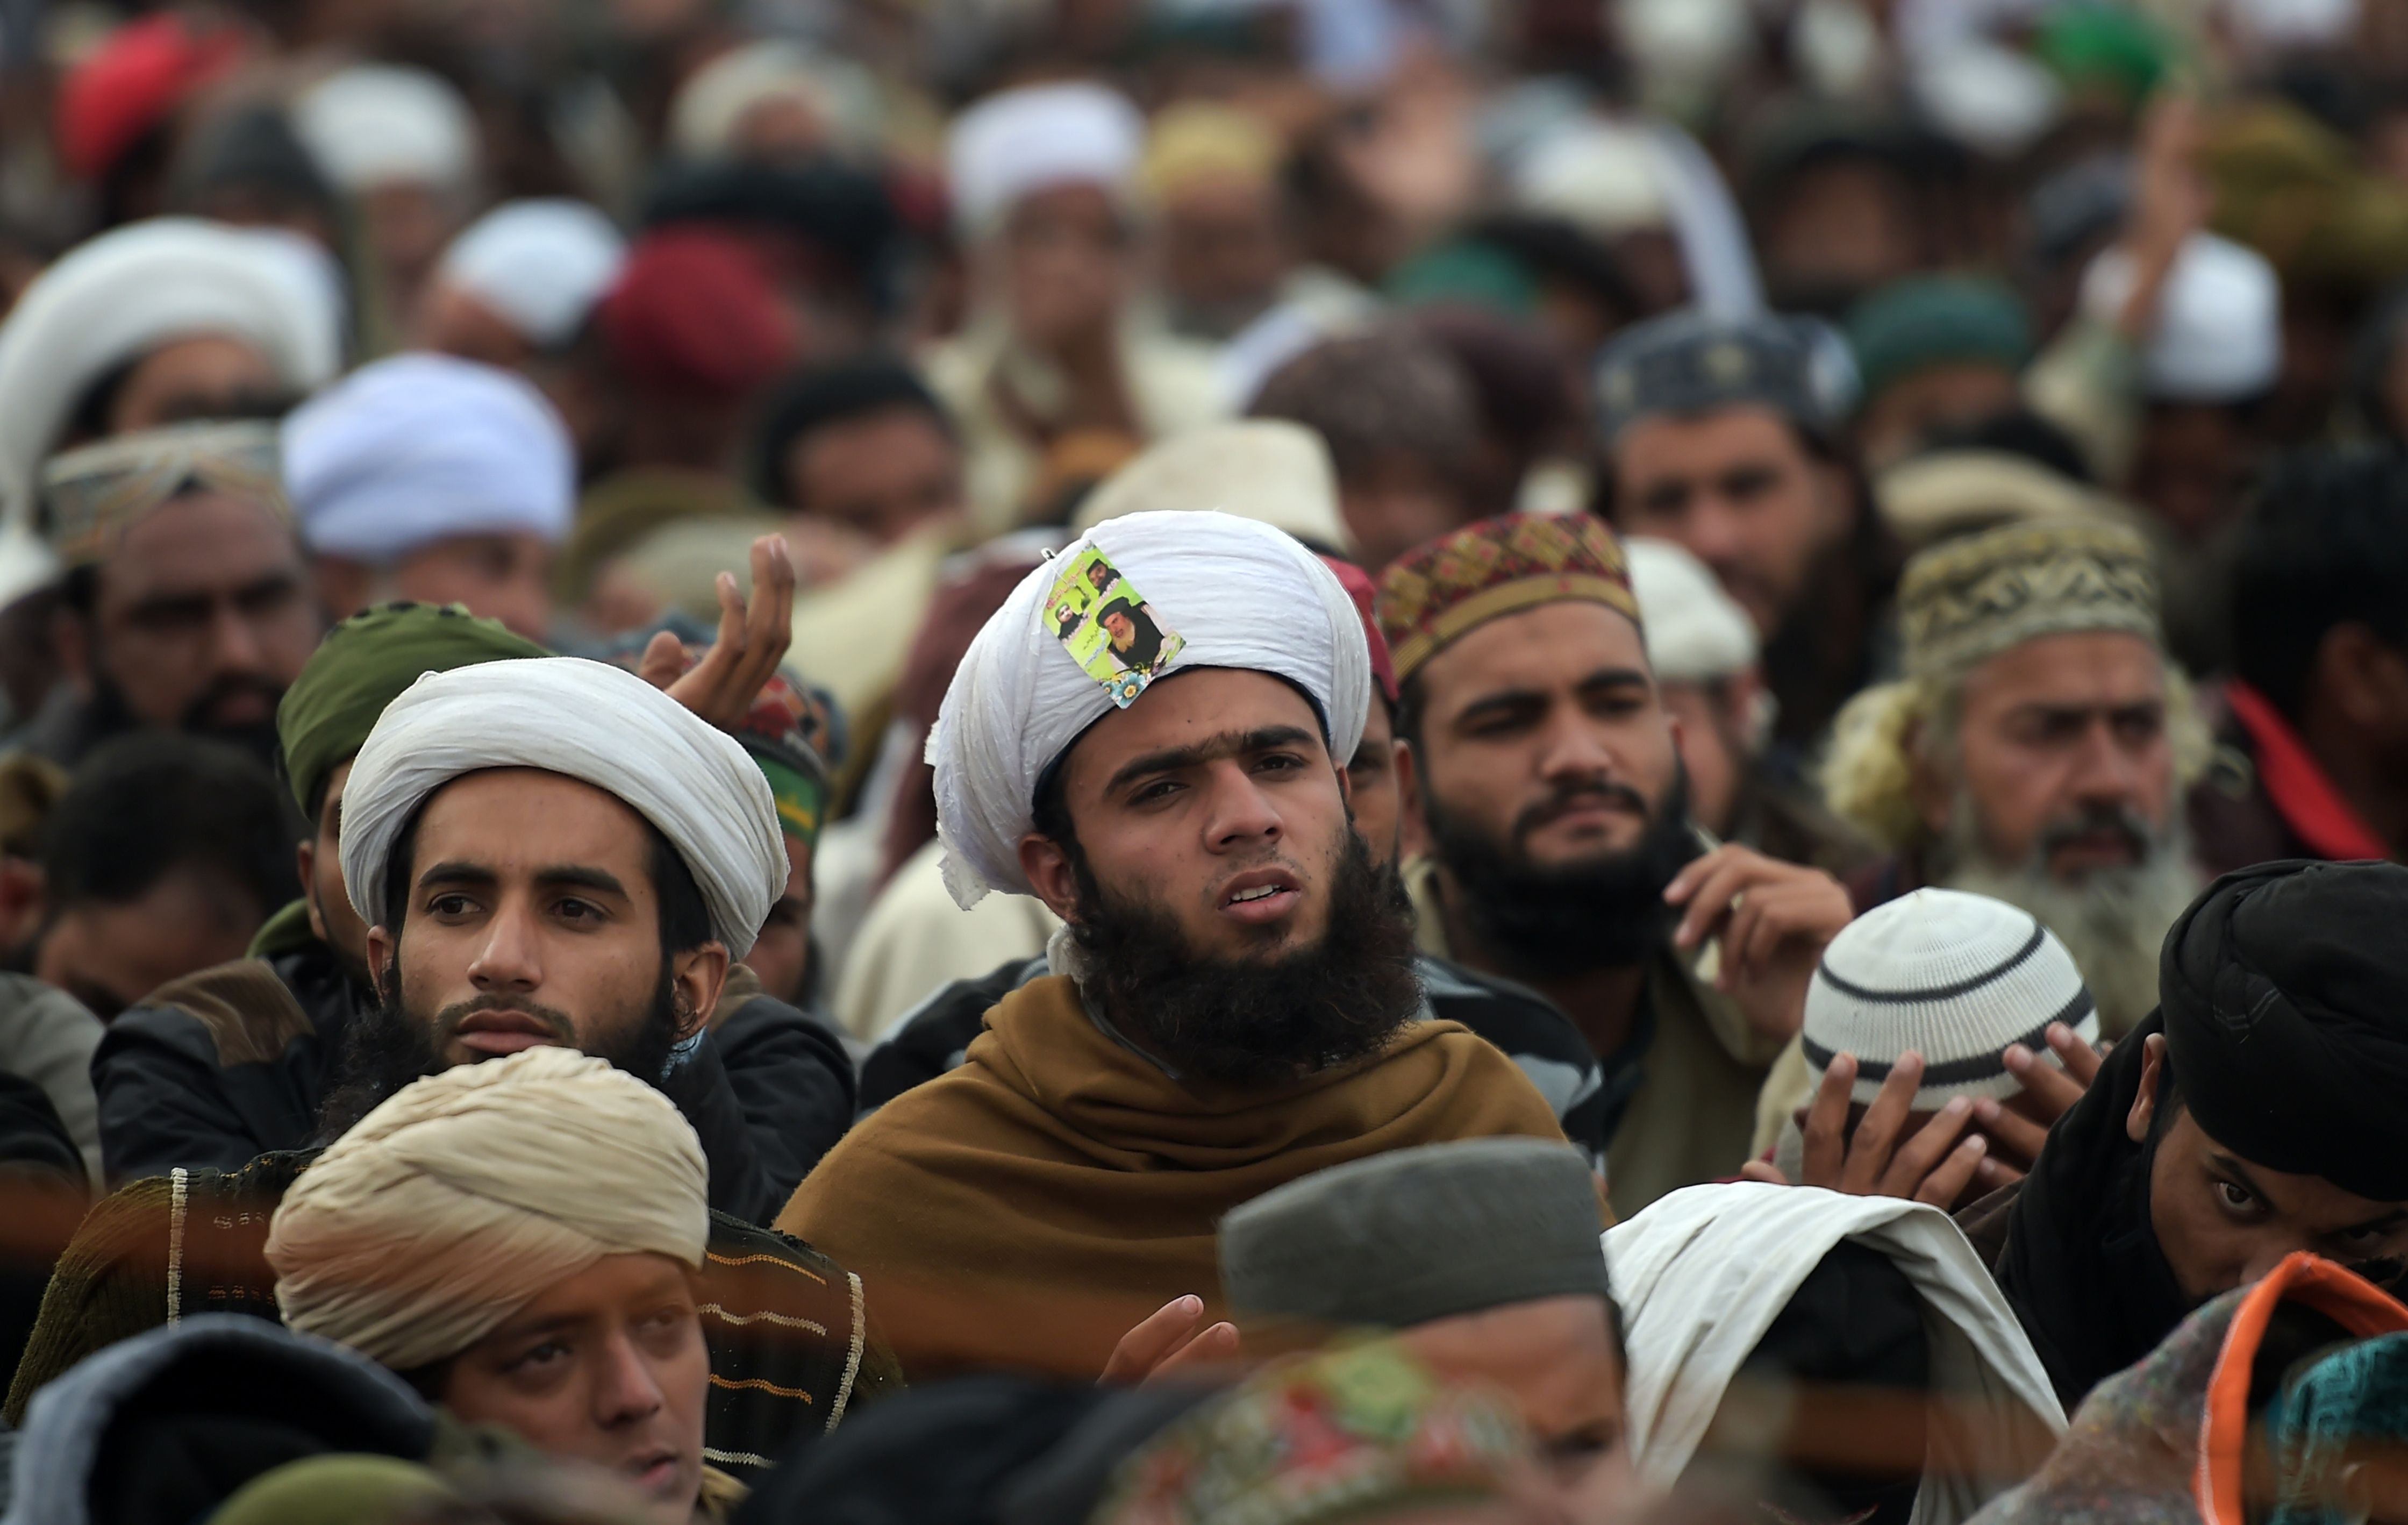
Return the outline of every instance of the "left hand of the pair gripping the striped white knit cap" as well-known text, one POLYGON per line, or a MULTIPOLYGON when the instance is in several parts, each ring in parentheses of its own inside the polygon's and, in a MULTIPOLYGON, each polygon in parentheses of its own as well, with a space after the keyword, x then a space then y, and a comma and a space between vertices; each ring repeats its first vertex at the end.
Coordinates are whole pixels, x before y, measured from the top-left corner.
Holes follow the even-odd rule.
MULTIPOLYGON (((1967 1132, 1972 1106, 1963 1096, 1931 1113, 1914 1137, 1900 1142, 1907 1113, 1914 1111, 1914 1091, 1924 1084, 1919 1053, 1905 1053, 1890 1065, 1881 1094, 1849 1135, 1854 1084, 1857 1060, 1842 1053, 1823 1072, 1813 1106, 1806 1108, 1799 1185, 1820 1185, 1852 1197, 1907 1197, 1948 1212, 1975 1180, 1984 1188, 2013 1180, 2011 1171, 1996 1171, 1996 1161, 1989 1159, 1989 1140, 1967 1132)), ((1787 1183, 1787 1176, 1765 1161, 1751 1161, 1741 1173, 1748 1180, 1787 1183)))

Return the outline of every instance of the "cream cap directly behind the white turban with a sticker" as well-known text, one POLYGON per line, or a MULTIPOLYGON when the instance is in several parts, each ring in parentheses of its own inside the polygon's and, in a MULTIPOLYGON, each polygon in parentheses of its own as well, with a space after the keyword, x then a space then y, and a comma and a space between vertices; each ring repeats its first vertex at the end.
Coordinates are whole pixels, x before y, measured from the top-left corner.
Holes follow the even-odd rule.
POLYGON ((1322 436, 1288 419, 1230 419, 1151 446, 1086 494, 1072 535, 1146 511, 1218 508, 1298 540, 1353 554, 1339 513, 1339 472, 1322 436))

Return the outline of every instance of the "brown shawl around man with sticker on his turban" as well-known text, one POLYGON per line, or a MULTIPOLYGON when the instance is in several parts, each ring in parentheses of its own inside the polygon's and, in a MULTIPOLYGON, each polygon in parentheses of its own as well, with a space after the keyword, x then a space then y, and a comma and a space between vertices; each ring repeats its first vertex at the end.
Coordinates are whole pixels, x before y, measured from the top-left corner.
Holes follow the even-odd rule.
POLYGON ((958 1070, 864 1118, 778 1229, 860 1272, 913 1380, 1093 1378, 1182 1294, 1221 1318, 1221 1214, 1327 1166, 1447 1140, 1560 1140, 1546 1099, 1454 1021, 1279 1091, 1185 1087, 1103 1034, 1069 978, 987 1012, 958 1070))

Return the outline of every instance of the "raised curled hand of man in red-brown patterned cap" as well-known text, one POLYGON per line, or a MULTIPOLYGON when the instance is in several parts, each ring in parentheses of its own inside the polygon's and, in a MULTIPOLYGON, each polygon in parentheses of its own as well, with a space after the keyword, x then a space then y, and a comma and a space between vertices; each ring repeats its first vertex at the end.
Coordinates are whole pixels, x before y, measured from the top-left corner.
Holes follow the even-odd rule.
POLYGON ((1727 843, 1690 862, 1664 889, 1688 913, 1674 947, 1722 940, 1714 988, 1739 1002, 1748 1026, 1792 1038, 1806 1019, 1806 983, 1823 949, 1854 918, 1847 889, 1818 867, 1765 858, 1727 843))

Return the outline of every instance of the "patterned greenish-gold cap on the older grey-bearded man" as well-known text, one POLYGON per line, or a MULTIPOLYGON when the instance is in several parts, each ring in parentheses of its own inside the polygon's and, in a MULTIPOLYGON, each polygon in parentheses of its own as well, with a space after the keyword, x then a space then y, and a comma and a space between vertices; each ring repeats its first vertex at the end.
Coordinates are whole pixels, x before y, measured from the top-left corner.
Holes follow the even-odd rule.
POLYGON ((1907 564, 1898 622, 1910 677, 1963 672, 2040 636, 2162 643, 2148 542, 2090 520, 2008 525, 1924 552, 1907 564))

